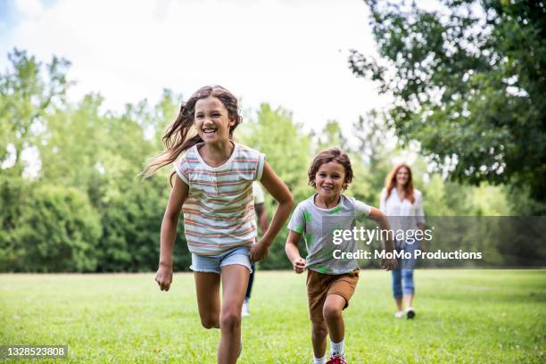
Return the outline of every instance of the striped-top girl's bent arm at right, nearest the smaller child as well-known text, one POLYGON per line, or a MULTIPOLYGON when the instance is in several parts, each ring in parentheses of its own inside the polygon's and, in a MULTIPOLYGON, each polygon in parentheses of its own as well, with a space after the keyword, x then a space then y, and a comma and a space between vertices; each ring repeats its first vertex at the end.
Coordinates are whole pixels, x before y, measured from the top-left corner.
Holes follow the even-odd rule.
POLYGON ((263 166, 261 184, 277 200, 278 206, 268 230, 261 236, 260 242, 252 246, 250 252, 251 261, 261 261, 268 256, 269 246, 273 243, 273 239, 277 236, 280 229, 285 225, 286 219, 288 219, 294 207, 294 197, 292 197, 282 179, 278 178, 277 174, 271 170, 267 161, 263 166))

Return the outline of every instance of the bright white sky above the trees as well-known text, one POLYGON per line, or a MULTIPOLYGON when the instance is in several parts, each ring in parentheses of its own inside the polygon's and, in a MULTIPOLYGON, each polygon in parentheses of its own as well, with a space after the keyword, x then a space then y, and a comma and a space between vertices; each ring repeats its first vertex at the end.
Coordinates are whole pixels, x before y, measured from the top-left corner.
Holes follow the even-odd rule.
POLYGON ((348 68, 348 50, 374 52, 361 0, 0 0, 0 70, 13 47, 72 62, 70 98, 99 92, 105 107, 155 103, 227 87, 244 108, 267 102, 306 128, 339 120, 345 133, 372 107, 376 86, 348 68), (4 4, 2 4, 4 3, 4 4), (4 13, 2 13, 4 12, 4 13))

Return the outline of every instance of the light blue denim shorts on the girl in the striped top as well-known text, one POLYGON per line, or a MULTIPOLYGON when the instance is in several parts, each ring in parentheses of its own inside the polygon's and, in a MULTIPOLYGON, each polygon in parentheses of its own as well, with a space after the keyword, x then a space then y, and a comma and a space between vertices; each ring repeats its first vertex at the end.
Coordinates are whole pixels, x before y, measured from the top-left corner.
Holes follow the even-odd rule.
POLYGON ((252 273, 249 257, 250 246, 236 246, 219 255, 197 255, 192 253, 192 265, 194 272, 220 274, 222 267, 239 264, 246 267, 252 273))

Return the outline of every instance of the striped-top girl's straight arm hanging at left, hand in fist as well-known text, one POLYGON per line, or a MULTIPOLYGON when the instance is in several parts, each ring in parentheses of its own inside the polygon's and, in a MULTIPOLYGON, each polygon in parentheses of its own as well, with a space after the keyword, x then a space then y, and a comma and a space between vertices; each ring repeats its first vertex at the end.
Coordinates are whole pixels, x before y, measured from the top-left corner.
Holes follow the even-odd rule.
POLYGON ((177 237, 178 217, 180 210, 182 210, 182 204, 186 201, 188 189, 189 186, 176 176, 161 222, 160 262, 155 275, 155 281, 161 291, 169 291, 172 282, 172 249, 177 237))

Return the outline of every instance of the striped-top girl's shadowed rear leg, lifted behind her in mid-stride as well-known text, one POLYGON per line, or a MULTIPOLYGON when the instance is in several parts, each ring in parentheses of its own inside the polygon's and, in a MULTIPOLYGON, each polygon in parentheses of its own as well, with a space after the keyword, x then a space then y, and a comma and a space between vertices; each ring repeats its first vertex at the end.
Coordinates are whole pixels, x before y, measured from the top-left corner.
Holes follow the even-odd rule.
POLYGON ((219 274, 194 272, 197 306, 204 328, 219 328, 219 274))

